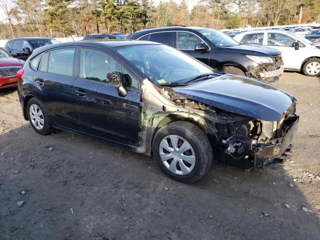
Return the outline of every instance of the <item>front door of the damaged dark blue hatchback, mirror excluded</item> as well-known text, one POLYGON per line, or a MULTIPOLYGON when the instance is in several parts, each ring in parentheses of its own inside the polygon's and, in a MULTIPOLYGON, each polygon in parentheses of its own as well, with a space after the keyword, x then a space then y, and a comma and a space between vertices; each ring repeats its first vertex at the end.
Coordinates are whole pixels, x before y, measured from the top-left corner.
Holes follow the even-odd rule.
POLYGON ((139 81, 106 52, 79 48, 73 84, 79 130, 119 143, 136 145, 140 121, 139 81), (107 81, 108 72, 119 71, 127 90, 120 96, 107 81))

